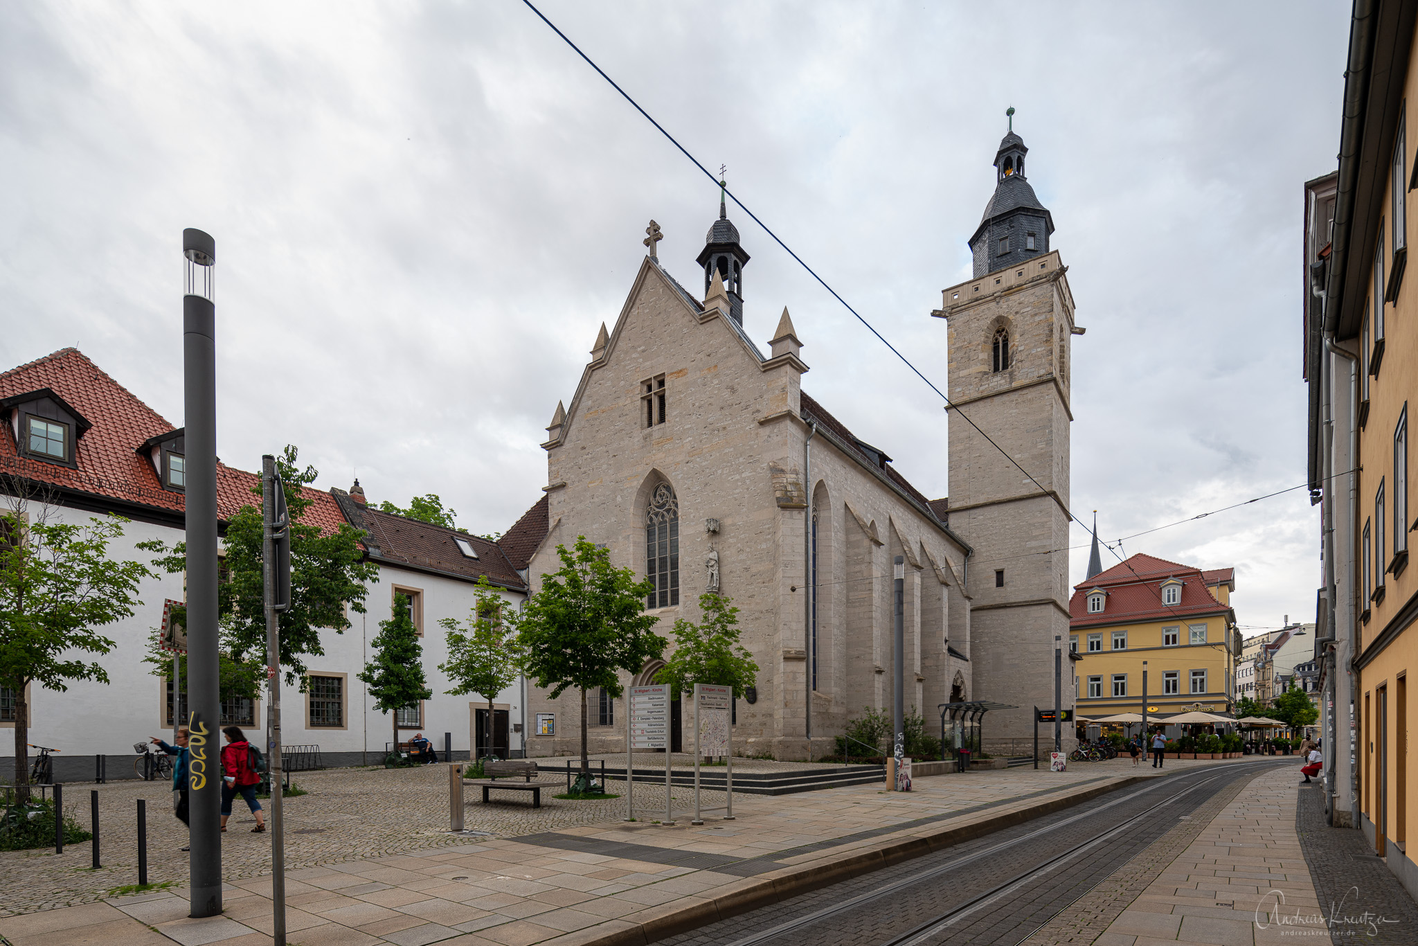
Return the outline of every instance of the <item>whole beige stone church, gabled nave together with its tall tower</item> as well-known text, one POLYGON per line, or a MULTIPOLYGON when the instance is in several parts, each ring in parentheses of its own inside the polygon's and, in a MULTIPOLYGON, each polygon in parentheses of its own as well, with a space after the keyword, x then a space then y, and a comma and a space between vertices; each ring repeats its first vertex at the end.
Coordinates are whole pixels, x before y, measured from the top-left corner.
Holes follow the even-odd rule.
MULTIPOLYGON (((735 706, 739 755, 830 755, 865 706, 891 711, 896 556, 906 706, 929 732, 942 703, 1015 706, 986 715, 984 749, 1031 752, 1031 709, 1052 706, 1054 648, 1068 641, 1068 365, 1082 329, 1027 153, 1012 130, 1000 143, 968 240, 974 278, 930 312, 949 333, 949 499, 927 499, 803 390, 804 340, 786 308, 767 350, 754 340, 770 309, 746 311, 750 257, 722 196, 696 258, 702 288, 669 274, 651 223, 624 306, 556 407, 546 496, 508 536, 525 549, 515 564, 535 590, 559 567, 556 546, 584 535, 654 580, 647 607, 665 637, 699 618, 705 590, 732 597, 760 668, 735 706)), ((579 694, 529 688, 527 755, 576 752, 579 694)), ((1064 661, 1066 708, 1075 692, 1064 661)), ((623 698, 590 694, 591 750, 623 750, 625 720, 623 698)))

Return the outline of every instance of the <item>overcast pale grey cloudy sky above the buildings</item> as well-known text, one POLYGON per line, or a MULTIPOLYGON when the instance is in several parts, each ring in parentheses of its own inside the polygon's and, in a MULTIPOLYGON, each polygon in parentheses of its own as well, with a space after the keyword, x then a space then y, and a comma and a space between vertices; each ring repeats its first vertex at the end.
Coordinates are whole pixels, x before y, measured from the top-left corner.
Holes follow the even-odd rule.
MULTIPOLYGON (((1115 539, 1305 481, 1302 184, 1336 162, 1346 4, 542 9, 942 389, 929 313, 970 278, 1012 105, 1088 328, 1075 511, 1115 539)), ((296 444, 322 486, 437 492, 478 532, 542 495, 645 223, 692 286, 718 213, 515 0, 3 4, 0 170, 0 366, 78 346, 180 424, 180 237, 204 228, 223 460, 296 444)), ((749 332, 787 305, 804 389, 946 495, 939 399, 730 217, 749 332)), ((1313 620, 1317 545, 1297 489, 1123 552, 1235 566, 1259 630, 1313 620)))

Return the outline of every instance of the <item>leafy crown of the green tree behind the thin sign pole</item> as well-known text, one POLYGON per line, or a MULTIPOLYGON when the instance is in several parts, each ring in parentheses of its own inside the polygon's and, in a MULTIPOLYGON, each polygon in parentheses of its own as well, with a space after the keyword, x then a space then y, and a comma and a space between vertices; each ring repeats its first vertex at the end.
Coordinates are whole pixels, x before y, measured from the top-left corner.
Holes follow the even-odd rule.
MULTIPOLYGON (((285 485, 285 503, 291 512, 291 607, 281 613, 281 664, 286 668, 286 682, 305 678, 305 657, 325 654, 320 628, 345 633, 350 627, 349 611, 364 613, 366 581, 379 580, 379 567, 364 560, 359 546, 360 532, 347 523, 322 530, 303 521, 315 502, 303 495, 302 486, 315 482, 315 467, 296 468, 299 451, 286 447, 277 457, 277 471, 285 485)), ((251 492, 261 496, 261 484, 251 492)), ((241 506, 227 522, 223 536, 228 579, 217 587, 223 642, 228 657, 238 662, 265 665, 265 599, 261 576, 262 521, 259 499, 241 506)), ((153 564, 169 573, 187 567, 186 543, 167 547, 162 542, 146 542, 140 549, 160 553, 153 564)))

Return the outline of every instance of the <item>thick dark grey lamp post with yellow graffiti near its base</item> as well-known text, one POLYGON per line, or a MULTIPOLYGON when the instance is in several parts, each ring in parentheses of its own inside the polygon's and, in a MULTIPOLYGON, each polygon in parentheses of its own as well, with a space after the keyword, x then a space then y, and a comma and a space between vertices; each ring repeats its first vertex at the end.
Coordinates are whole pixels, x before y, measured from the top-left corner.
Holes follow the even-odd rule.
MULTIPOLYGON (((190 915, 221 913, 221 719, 217 668, 216 241, 183 230, 183 425, 187 461, 187 726, 190 915)), ((176 696, 176 695, 174 695, 176 696)))

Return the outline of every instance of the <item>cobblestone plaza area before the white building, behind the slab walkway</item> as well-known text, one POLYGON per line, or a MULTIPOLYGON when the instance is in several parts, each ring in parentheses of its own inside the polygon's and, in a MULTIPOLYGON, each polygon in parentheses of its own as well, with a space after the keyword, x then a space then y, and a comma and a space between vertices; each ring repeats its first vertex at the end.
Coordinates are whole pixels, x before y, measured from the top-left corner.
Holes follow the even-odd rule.
MULTIPOLYGON (((340 864, 410 851, 467 844, 448 834, 448 769, 330 769, 295 776, 309 794, 285 800, 285 862, 288 868, 340 864)), ((624 816, 625 800, 570 801, 552 796, 564 789, 549 779, 542 807, 532 807, 527 793, 482 793, 467 789, 465 830, 492 837, 614 821, 624 816), (502 796, 499 798, 499 796, 502 796)), ((102 786, 65 786, 64 810, 89 827, 89 791, 99 794, 99 854, 102 869, 89 868, 92 848, 85 841, 64 848, 0 852, 0 916, 94 902, 113 888, 138 882, 138 800, 147 806, 147 879, 152 884, 186 885, 187 828, 172 816, 172 790, 166 781, 113 781, 102 786)), ((611 791, 624 793, 624 783, 611 791)), ((692 807, 693 791, 675 786, 675 806, 692 807)), ((700 791, 705 807, 722 806, 725 793, 700 791)), ((269 807, 269 803, 264 803, 269 807)), ((665 787, 635 783, 635 806, 648 817, 665 810, 665 787)), ((647 817, 642 814, 641 817, 647 817)), ((237 798, 228 831, 223 835, 223 868, 228 881, 271 872, 271 835, 251 834, 255 821, 237 798)))

